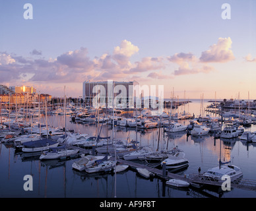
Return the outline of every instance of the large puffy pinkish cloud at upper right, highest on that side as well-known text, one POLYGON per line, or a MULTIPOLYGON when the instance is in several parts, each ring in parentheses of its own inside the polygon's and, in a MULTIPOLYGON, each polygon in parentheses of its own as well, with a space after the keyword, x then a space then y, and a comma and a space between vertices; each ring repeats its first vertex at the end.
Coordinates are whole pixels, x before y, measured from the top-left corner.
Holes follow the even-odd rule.
POLYGON ((218 38, 218 43, 211 45, 210 49, 203 51, 200 61, 203 63, 225 63, 235 59, 230 49, 232 40, 230 38, 218 38))

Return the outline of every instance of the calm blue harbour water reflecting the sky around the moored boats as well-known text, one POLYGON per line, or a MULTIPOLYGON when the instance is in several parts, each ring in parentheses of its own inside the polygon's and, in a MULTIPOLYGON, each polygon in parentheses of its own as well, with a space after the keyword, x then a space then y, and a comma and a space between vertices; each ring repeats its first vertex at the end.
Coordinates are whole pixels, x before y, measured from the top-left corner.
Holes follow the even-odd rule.
MULTIPOLYGON (((204 104, 207 106, 207 103, 204 104)), ((200 100, 193 101, 185 110, 199 115, 200 100)), ((179 107, 183 111, 184 107, 179 107)), ((48 116, 48 123, 55 127, 63 127, 63 116, 48 116)), ((180 121, 187 125, 189 122, 180 121)), ((96 134, 96 124, 71 123, 67 117, 67 128, 96 134)), ((249 131, 256 131, 255 125, 247 128, 249 131)), ((150 145, 157 147, 158 129, 146 132, 138 132, 139 145, 150 145)), ((102 136, 112 135, 112 126, 103 125, 102 136)), ((116 138, 136 138, 135 130, 122 127, 115 127, 116 138)), ((166 148, 167 137, 161 137, 160 147, 166 148)), ((178 172, 180 175, 197 173, 199 166, 201 172, 207 171, 210 167, 218 166, 220 157, 222 160, 231 160, 232 164, 240 166, 243 171, 243 178, 256 179, 256 148, 253 144, 246 144, 239 139, 223 141, 210 135, 203 138, 193 138, 184 133, 176 133, 169 138, 168 148, 179 146, 185 152, 185 158, 189 160, 189 167, 178 172)), ((79 158, 77 158, 79 159, 79 158)), ((27 156, 15 152, 12 146, 1 144, 0 146, 0 197, 85 197, 85 198, 113 198, 115 196, 115 175, 108 173, 103 175, 88 175, 72 169, 75 160, 57 162, 55 160, 40 162, 39 155, 27 156), (33 191, 24 191, 24 175, 32 175, 33 191)), ((135 171, 129 169, 123 173, 117 173, 116 177, 117 198, 201 198, 201 197, 222 197, 222 198, 243 198, 256 197, 255 191, 244 191, 232 189, 223 193, 221 189, 209 188, 203 191, 195 189, 179 190, 164 185, 162 180, 143 179, 135 171)))

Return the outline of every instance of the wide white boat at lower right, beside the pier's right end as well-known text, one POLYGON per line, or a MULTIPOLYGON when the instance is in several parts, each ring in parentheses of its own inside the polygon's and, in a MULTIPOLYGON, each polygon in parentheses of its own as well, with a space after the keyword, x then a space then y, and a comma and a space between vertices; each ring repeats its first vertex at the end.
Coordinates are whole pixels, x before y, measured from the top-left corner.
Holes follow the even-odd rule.
POLYGON ((207 172, 203 173, 203 177, 206 179, 214 179, 216 181, 223 181, 222 176, 230 176, 231 181, 240 178, 243 175, 241 168, 234 165, 222 165, 208 169, 207 172))

